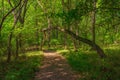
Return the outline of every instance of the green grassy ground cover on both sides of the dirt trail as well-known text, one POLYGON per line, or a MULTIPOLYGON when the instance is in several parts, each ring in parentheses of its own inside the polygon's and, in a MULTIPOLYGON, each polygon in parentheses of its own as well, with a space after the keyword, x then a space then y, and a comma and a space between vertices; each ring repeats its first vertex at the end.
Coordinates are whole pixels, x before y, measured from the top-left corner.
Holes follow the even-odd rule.
MULTIPOLYGON (((80 49, 58 50, 66 57, 72 69, 81 74, 80 80, 120 80, 120 46, 107 46, 108 56, 100 59, 95 51, 80 49)), ((0 62, 0 80, 33 80, 41 65, 42 52, 28 52, 11 63, 0 62)), ((5 58, 3 58, 5 60, 5 58)))

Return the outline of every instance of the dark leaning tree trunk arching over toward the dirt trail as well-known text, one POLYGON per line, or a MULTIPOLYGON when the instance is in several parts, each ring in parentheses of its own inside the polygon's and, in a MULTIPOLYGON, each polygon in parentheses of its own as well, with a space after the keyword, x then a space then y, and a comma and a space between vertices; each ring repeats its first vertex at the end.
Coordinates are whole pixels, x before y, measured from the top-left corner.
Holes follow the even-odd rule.
POLYGON ((79 40, 79 41, 81 41, 81 42, 83 42, 83 43, 86 43, 86 44, 90 45, 92 48, 94 48, 94 49, 97 51, 98 55, 99 55, 101 58, 105 58, 105 57, 106 57, 106 55, 104 54, 104 51, 102 50, 102 48, 100 48, 99 45, 97 45, 96 43, 94 43, 94 42, 91 41, 91 40, 88 40, 88 39, 86 39, 86 38, 82 38, 82 37, 76 35, 75 33, 73 33, 73 32, 70 31, 70 30, 61 29, 60 27, 52 27, 52 28, 46 28, 46 29, 44 29, 43 31, 44 31, 44 32, 45 32, 45 31, 50 31, 50 30, 52 30, 52 29, 57 29, 57 30, 59 30, 59 31, 61 31, 61 32, 64 32, 64 33, 66 33, 66 34, 69 34, 71 37, 75 38, 76 40, 79 40))

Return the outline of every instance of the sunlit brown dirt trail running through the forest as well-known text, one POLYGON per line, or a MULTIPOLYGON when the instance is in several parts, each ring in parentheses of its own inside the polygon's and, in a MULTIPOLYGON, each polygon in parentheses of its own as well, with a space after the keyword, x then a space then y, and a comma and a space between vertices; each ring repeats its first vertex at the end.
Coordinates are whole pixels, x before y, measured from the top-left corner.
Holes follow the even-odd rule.
POLYGON ((34 80, 78 80, 80 75, 71 70, 66 59, 56 52, 44 51, 40 71, 34 80))

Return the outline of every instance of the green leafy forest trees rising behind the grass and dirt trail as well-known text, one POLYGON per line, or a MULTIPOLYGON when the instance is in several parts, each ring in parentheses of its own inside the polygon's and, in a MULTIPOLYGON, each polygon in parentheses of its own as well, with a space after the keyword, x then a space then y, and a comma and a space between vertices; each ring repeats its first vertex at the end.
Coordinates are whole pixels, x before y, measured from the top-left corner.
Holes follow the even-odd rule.
MULTIPOLYGON (((57 30, 42 31, 55 26, 100 46, 120 41, 120 0, 1 0, 0 55, 28 47, 73 45, 79 42, 57 30), (71 43, 71 44, 69 44, 71 43)), ((80 44, 82 45, 82 44, 80 44)), ((98 52, 99 53, 99 52, 98 52)))

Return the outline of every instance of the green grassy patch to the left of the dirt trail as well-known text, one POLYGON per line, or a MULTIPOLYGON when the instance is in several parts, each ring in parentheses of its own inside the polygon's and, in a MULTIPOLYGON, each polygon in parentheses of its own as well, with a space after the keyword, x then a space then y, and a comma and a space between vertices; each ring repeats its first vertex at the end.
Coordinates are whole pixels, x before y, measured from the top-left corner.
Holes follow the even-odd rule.
POLYGON ((0 80, 32 80, 41 65, 41 52, 28 52, 11 63, 0 63, 0 80))

